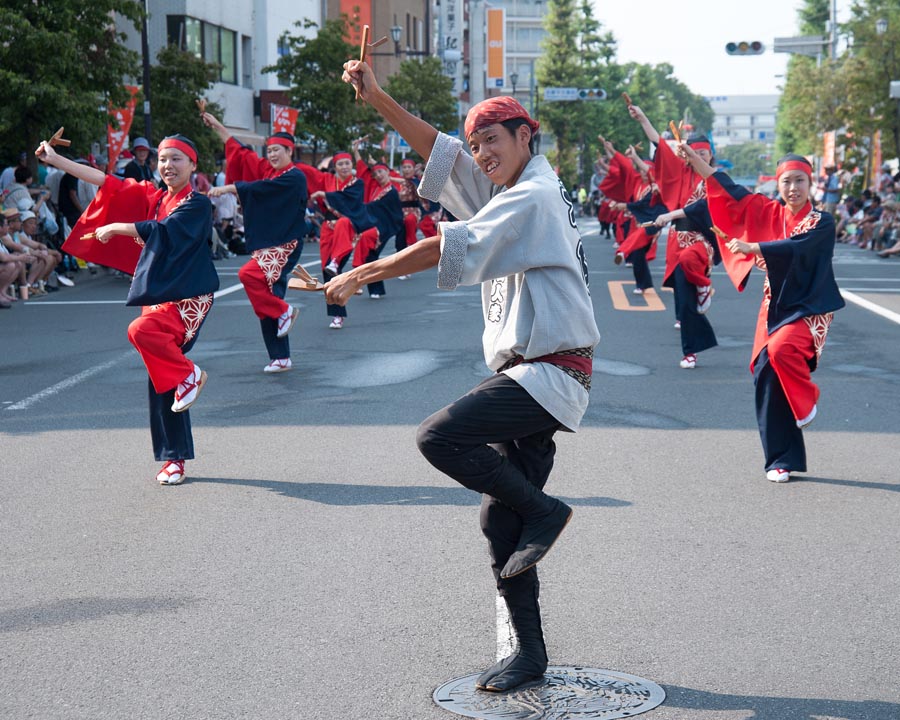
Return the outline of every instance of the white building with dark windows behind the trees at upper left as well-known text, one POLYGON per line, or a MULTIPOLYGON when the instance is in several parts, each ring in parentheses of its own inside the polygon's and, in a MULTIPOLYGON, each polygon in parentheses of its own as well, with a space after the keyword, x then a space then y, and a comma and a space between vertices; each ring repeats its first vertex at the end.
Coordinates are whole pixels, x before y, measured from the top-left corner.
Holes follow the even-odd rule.
MULTIPOLYGON (((145 0, 151 64, 170 44, 222 66, 219 82, 207 93, 225 109, 224 124, 239 139, 260 144, 268 125, 259 122, 262 91, 281 91, 274 73, 263 73, 279 58, 278 39, 300 32, 294 23, 310 18, 322 23, 321 0, 145 0), (256 108, 256 111, 254 111, 256 108)), ((140 53, 141 35, 130 23, 120 25, 126 45, 140 53)), ((151 98, 152 101, 152 98, 151 98)), ((152 107, 151 107, 152 112, 152 107)), ((157 138, 158 139, 158 138, 157 138)))

